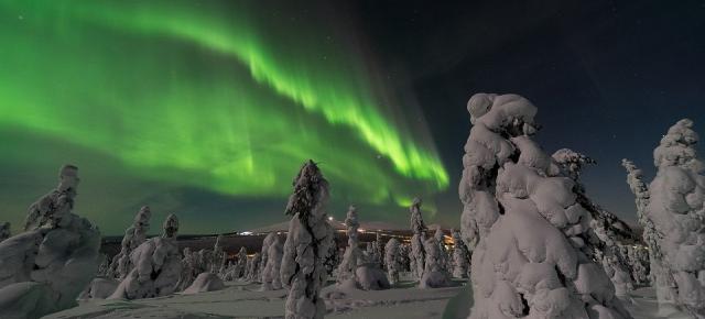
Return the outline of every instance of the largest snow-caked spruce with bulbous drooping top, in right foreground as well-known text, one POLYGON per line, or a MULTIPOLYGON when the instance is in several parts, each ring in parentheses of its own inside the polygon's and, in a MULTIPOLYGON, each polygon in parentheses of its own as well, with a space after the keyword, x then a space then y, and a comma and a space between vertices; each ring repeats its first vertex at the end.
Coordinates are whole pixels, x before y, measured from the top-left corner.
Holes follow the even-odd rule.
POLYGON ((536 108, 517 95, 468 101, 459 195, 475 246, 470 318, 630 318, 592 262, 590 213, 575 182, 531 140, 536 108))

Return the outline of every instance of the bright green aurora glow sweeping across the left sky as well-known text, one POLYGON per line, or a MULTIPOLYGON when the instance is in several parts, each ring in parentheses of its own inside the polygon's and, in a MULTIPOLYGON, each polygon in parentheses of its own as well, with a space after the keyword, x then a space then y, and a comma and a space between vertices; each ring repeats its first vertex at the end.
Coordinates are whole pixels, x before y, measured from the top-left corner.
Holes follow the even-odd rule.
MULTIPOLYGON (((348 201, 447 188, 427 128, 389 107, 345 34, 256 3, 0 0, 0 142, 61 141, 238 197, 284 197, 306 158, 348 201)), ((91 160, 25 148, 0 163, 91 160)))

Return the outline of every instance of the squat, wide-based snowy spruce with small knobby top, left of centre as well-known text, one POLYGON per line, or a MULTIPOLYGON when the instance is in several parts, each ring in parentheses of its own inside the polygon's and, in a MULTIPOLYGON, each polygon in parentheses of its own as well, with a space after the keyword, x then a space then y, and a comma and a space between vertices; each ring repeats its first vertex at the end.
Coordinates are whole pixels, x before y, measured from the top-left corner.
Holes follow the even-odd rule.
POLYGON ((178 219, 166 217, 161 237, 149 239, 130 254, 134 268, 120 283, 110 299, 141 299, 172 294, 182 273, 176 243, 178 219))

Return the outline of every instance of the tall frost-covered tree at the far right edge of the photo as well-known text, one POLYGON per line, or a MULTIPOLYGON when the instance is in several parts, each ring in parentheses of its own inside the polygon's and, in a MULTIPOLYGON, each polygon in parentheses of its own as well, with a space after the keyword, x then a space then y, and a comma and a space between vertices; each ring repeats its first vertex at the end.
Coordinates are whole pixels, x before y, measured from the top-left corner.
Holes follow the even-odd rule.
POLYGON ((659 301, 674 301, 705 318, 705 165, 697 158, 697 142, 693 121, 671 127, 653 151, 658 172, 649 187, 633 164, 623 164, 637 194, 644 240, 655 248, 650 253, 659 301))

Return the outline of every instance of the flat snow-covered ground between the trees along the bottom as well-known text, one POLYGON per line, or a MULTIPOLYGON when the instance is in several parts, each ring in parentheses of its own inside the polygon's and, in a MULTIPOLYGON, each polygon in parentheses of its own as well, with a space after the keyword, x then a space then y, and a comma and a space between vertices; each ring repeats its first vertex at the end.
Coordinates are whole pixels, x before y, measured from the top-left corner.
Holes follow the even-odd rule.
MULTIPOLYGON (((334 285, 327 286, 322 295, 333 297, 334 294, 329 294, 333 288, 334 285)), ((466 285, 419 289, 406 279, 389 290, 354 290, 345 293, 345 296, 328 298, 326 318, 466 318, 469 298, 471 289, 466 285)), ((684 314, 657 316, 652 288, 637 289, 631 298, 632 302, 626 302, 626 306, 633 318, 690 318, 684 314)), ((234 282, 227 283, 223 290, 195 295, 171 295, 132 301, 82 301, 78 307, 44 318, 283 318, 285 299, 286 290, 260 292, 260 284, 234 282)))

